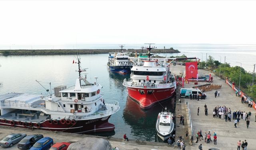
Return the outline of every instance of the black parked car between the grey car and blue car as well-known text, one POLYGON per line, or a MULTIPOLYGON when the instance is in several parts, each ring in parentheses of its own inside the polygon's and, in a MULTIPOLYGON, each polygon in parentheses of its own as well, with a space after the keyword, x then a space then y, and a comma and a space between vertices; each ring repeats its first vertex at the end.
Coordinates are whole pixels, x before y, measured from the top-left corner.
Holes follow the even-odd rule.
POLYGON ((28 135, 23 138, 17 145, 20 149, 30 149, 38 140, 43 138, 42 134, 28 135))

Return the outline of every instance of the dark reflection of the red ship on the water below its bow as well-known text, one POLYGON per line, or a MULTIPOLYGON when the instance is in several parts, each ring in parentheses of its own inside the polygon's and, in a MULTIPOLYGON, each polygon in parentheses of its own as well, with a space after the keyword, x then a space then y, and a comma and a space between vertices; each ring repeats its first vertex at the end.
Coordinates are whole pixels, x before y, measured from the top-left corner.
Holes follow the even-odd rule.
POLYGON ((162 105, 174 111, 174 99, 168 99, 152 109, 143 111, 140 106, 127 96, 125 108, 123 110, 124 122, 131 128, 131 136, 138 140, 155 141, 156 117, 162 105))

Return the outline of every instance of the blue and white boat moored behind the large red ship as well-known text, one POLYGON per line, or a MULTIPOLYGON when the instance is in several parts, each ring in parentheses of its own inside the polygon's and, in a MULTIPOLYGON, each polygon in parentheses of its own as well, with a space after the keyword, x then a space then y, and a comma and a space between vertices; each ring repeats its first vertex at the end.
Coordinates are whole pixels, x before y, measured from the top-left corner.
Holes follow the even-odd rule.
MULTIPOLYGON (((121 45, 121 48, 124 46, 121 45)), ((121 49, 122 50, 122 49, 121 49)), ((110 52, 108 56, 108 69, 111 72, 117 72, 120 74, 128 74, 131 72, 132 62, 129 60, 129 55, 132 52, 110 52)))

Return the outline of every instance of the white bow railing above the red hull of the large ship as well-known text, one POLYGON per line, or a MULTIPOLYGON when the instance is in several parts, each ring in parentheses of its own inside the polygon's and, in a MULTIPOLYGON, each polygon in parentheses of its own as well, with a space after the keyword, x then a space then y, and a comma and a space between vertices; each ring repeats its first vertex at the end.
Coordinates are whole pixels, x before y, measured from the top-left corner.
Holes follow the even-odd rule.
POLYGON ((138 88, 169 88, 172 86, 175 86, 174 82, 170 82, 170 83, 166 83, 166 84, 154 84, 154 83, 137 83, 137 82, 133 82, 132 79, 130 80, 130 78, 128 79, 128 81, 126 81, 126 79, 124 79, 123 82, 124 86, 132 86, 132 87, 138 87, 138 88))

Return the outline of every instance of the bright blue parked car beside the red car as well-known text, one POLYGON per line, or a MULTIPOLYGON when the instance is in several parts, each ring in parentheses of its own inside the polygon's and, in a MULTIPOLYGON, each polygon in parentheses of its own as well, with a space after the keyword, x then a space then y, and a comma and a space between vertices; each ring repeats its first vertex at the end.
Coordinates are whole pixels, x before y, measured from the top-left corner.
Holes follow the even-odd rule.
POLYGON ((53 140, 50 137, 44 137, 38 140, 29 150, 47 150, 53 145, 53 140))

